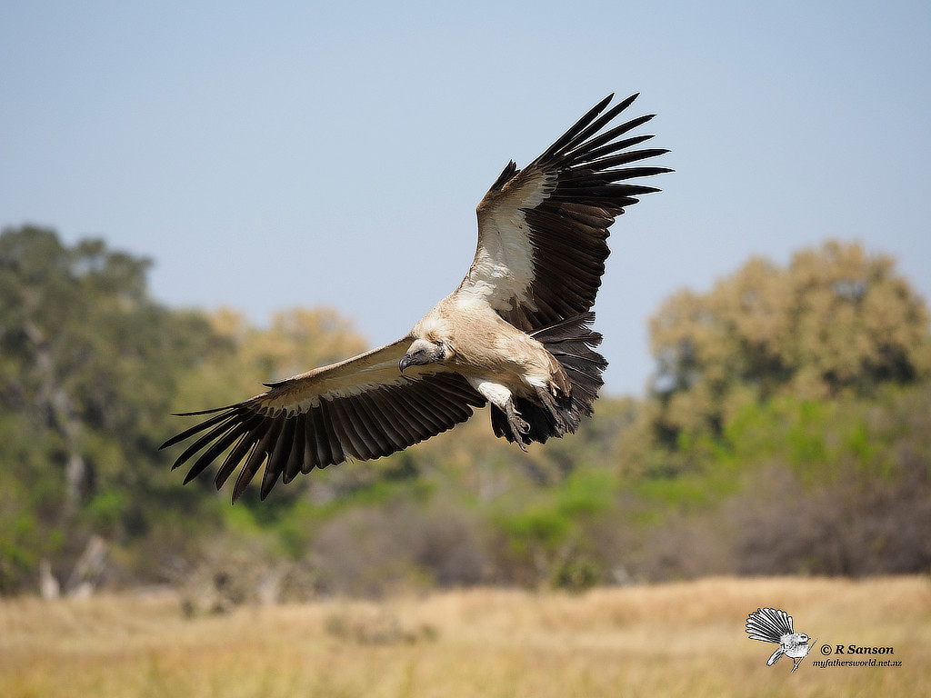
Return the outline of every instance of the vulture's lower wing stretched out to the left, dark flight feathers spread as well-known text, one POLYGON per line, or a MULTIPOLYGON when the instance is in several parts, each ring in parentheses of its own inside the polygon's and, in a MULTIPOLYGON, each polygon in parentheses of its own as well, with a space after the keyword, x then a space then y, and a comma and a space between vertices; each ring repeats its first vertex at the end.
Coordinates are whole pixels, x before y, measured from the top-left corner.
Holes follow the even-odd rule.
POLYGON ((278 383, 260 396, 220 409, 161 448, 196 440, 172 469, 196 457, 190 482, 229 450, 214 477, 219 490, 241 466, 233 501, 265 464, 262 499, 281 478, 288 483, 313 468, 379 458, 465 422, 485 399, 460 374, 439 364, 411 367, 398 362, 410 337, 331 366, 278 383))

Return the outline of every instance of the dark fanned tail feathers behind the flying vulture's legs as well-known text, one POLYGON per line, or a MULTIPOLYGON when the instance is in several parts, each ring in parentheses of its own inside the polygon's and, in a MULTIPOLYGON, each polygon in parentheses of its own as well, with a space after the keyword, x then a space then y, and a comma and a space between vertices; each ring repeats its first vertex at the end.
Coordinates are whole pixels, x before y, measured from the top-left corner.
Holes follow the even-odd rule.
MULTIPOLYGON (((541 342, 560 362, 572 387, 568 396, 556 397, 559 420, 546 407, 526 397, 515 396, 515 407, 530 424, 530 431, 524 437, 526 441, 546 443, 550 436, 563 436, 567 431, 574 434, 582 419, 591 416, 592 403, 604 384, 601 372, 608 367, 604 356, 594 350, 601 343, 601 335, 590 329, 594 320, 594 313, 583 313, 532 333, 533 339, 541 342)), ((495 436, 515 440, 505 413, 493 407, 492 429, 495 436)))

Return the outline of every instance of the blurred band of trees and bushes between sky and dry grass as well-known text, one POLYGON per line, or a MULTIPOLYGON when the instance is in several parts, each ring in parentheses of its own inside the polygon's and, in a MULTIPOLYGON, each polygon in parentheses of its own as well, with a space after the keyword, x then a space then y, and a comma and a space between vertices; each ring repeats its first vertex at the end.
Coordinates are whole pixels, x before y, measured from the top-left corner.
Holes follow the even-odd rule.
MULTIPOLYGON (((931 335, 895 262, 828 242, 751 259, 651 319, 645 397, 602 396, 527 455, 469 423, 236 506, 182 487, 171 412, 366 347, 295 308, 256 327, 172 309, 150 261, 52 230, 0 235, 0 594, 255 598, 472 584, 583 589, 708 574, 931 569, 931 335)), ((610 333, 610 327, 599 328, 610 333)))

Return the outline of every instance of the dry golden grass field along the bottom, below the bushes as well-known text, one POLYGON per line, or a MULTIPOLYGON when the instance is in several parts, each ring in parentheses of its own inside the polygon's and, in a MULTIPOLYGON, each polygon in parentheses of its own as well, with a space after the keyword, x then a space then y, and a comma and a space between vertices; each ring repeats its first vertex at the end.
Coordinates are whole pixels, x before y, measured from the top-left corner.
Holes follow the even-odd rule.
POLYGON ((0 601, 4 698, 663 695, 931 695, 931 582, 476 589, 195 619, 168 594, 0 601), (796 631, 818 638, 794 673, 788 658, 766 666, 775 646, 747 638, 759 606, 788 611, 796 631), (873 658, 901 665, 818 668, 826 643, 892 647, 873 658))

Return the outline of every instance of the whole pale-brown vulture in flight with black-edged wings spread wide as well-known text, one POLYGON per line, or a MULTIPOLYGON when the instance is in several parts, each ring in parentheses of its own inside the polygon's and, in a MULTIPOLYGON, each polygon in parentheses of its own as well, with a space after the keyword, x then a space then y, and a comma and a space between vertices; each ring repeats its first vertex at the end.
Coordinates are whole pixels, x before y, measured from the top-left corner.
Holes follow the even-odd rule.
POLYGON ((638 95, 596 104, 526 168, 509 162, 477 208, 479 244, 466 277, 397 342, 275 383, 218 409, 161 448, 192 439, 172 469, 184 482, 220 463, 233 502, 264 465, 260 497, 280 479, 406 449, 491 404, 492 430, 527 450, 574 433, 592 413, 607 362, 591 308, 608 228, 671 171, 631 135, 647 114, 614 124, 638 95))

